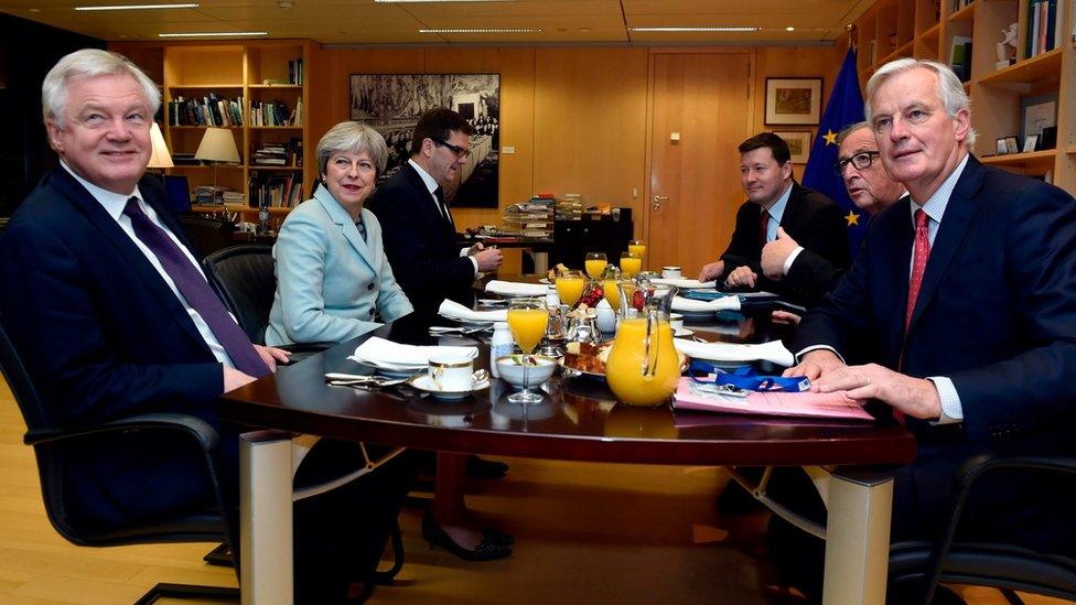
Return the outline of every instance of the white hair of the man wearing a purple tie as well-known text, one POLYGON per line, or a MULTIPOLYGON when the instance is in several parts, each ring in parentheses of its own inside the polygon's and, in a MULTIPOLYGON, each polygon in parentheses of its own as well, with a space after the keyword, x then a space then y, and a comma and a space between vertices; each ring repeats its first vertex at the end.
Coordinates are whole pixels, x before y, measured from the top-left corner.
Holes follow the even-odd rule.
POLYGON ((157 84, 153 84, 153 80, 126 56, 100 48, 75 51, 61 58, 49 71, 45 80, 41 83, 41 109, 44 120, 52 121, 57 128, 64 127, 64 107, 67 105, 67 86, 71 80, 117 74, 131 76, 142 87, 142 95, 150 111, 147 120, 152 120, 157 110, 161 108, 161 91, 157 88, 157 84))

